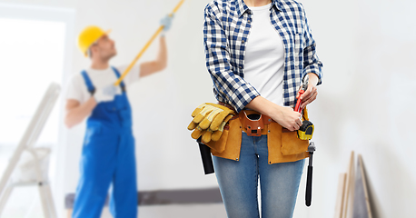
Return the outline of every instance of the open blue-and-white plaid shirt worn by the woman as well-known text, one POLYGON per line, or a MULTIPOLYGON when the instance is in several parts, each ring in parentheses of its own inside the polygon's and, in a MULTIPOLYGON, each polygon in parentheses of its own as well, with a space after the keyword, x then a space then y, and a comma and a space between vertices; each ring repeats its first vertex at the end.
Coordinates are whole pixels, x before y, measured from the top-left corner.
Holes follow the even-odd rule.
MULTIPOLYGON (((243 0, 214 0, 205 7, 203 41, 206 67, 213 79, 218 101, 231 104, 237 112, 260 95, 244 80, 245 45, 253 12, 243 0)), ((293 0, 272 0, 271 24, 284 45, 283 102, 293 106, 305 74, 314 73, 321 84, 322 63, 315 53, 303 6, 293 0)))

